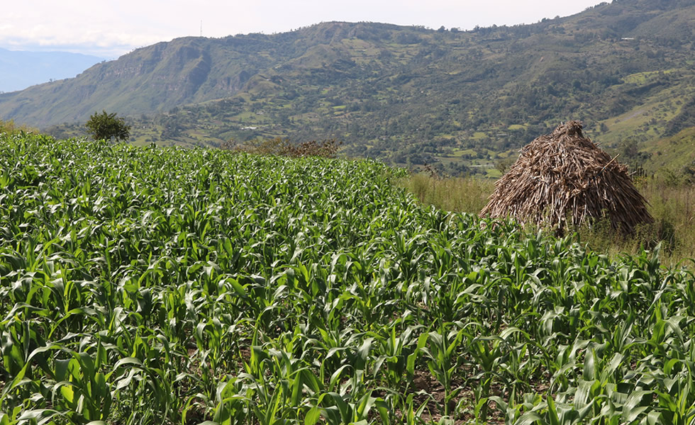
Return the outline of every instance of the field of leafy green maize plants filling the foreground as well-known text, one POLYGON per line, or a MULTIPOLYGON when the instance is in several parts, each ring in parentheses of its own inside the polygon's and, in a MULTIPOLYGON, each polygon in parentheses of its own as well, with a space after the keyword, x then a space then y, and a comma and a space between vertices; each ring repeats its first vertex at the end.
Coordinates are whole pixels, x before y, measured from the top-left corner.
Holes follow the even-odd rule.
POLYGON ((0 425, 695 423, 688 268, 402 173, 0 135, 0 425))

